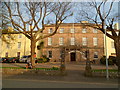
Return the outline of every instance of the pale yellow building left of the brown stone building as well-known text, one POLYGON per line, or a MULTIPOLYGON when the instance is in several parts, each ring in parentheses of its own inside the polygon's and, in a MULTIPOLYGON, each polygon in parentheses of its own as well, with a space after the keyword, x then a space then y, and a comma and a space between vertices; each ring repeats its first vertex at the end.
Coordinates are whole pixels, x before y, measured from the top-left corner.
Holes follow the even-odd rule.
POLYGON ((2 42, 2 57, 21 57, 23 55, 30 55, 30 40, 23 34, 12 34, 14 40, 11 40, 9 34, 4 34, 4 36, 9 43, 2 42))

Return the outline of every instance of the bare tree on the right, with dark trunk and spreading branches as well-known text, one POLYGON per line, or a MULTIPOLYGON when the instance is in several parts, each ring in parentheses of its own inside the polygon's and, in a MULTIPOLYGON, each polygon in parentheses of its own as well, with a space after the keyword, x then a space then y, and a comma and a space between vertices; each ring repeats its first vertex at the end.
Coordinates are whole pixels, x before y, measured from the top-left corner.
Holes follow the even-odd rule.
POLYGON ((114 28, 114 22, 118 19, 118 12, 114 11, 114 3, 107 2, 108 0, 96 2, 82 2, 82 7, 78 13, 78 19, 87 20, 93 24, 85 24, 86 26, 96 28, 97 30, 102 31, 106 35, 114 40, 114 46, 116 51, 116 56, 118 60, 118 69, 120 70, 120 30, 114 28), (88 8, 89 7, 89 8, 88 8), (117 34, 118 33, 118 34, 117 34))

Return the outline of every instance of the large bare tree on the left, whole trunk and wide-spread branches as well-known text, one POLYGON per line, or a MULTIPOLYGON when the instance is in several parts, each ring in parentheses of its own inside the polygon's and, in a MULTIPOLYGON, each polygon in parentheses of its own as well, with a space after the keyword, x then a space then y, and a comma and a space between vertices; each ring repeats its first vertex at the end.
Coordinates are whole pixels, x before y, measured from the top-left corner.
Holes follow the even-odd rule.
POLYGON ((36 42, 54 35, 60 24, 69 16, 72 16, 70 2, 4 2, 9 13, 9 19, 13 27, 31 40, 31 62, 35 65, 34 53, 36 42), (43 34, 45 25, 53 20, 55 30, 50 34, 43 34), (18 21, 17 21, 18 20, 18 21), (47 21, 47 22, 46 22, 47 21), (27 26, 30 26, 28 29, 27 26), (29 32, 27 32, 29 31, 29 32))

